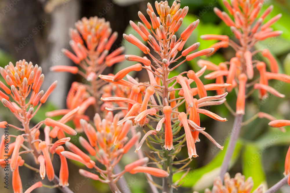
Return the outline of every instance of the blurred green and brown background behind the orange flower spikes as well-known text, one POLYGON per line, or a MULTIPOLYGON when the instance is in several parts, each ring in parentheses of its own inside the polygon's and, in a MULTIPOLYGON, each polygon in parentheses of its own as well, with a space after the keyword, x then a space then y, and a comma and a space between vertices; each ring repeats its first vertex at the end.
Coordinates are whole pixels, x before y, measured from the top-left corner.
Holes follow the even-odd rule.
MULTIPOLYGON (((138 11, 146 14, 147 3, 151 0, 1 0, 0 2, 0 66, 8 65, 9 61, 15 64, 16 61, 26 59, 33 64, 38 64, 42 67, 46 81, 42 87, 47 90, 49 85, 58 80, 58 86, 50 97, 50 101, 43 106, 37 113, 37 116, 32 120, 37 123, 44 120, 45 112, 61 109, 65 107, 65 100, 70 85, 73 81, 78 81, 80 77, 72 76, 69 73, 52 73, 49 67, 53 65, 74 65, 70 59, 66 58, 61 53, 61 48, 69 47, 68 29, 74 27, 74 23, 82 17, 98 16, 104 17, 110 21, 113 31, 119 33, 119 37, 113 45, 112 49, 124 45, 126 54, 135 54, 142 56, 142 52, 138 51, 135 46, 126 43, 123 40, 122 34, 129 34, 132 29, 129 21, 137 23, 139 17, 138 11)), ((173 0, 168 1, 171 5, 173 0)), ((280 65, 280 73, 290 74, 290 2, 289 0, 267 0, 264 3, 262 11, 269 5, 274 5, 274 10, 267 21, 271 17, 282 13, 282 18, 273 25, 274 30, 282 30, 284 34, 279 38, 270 38, 269 40, 257 44, 257 49, 267 48, 278 60, 280 65)), ((189 6, 189 12, 182 24, 182 32, 190 23, 200 19, 200 24, 193 32, 190 41, 187 41, 185 47, 189 47, 195 42, 200 42, 199 49, 208 48, 215 41, 204 41, 200 39, 203 34, 231 34, 227 27, 213 12, 214 7, 225 10, 222 0, 182 0, 181 7, 189 6)), ((154 7, 154 6, 153 6, 154 7)), ((154 8, 155 9, 155 8, 154 8)), ((139 38, 139 37, 138 37, 139 38)), ((210 60, 215 64, 228 61, 234 56, 235 52, 231 49, 220 49, 210 58, 202 58, 210 60)), ((264 60, 260 58, 260 60, 264 60)), ((172 76, 179 74, 182 71, 193 69, 194 71, 200 68, 196 65, 197 60, 185 63, 172 73, 172 76)), ((265 60, 268 62, 267 60, 265 60)), ((129 65, 128 61, 114 65, 106 69, 104 74, 114 73, 129 65)), ((209 73, 209 71, 206 71, 209 73)), ((205 74, 206 74, 205 73, 205 74)), ((146 73, 133 74, 141 81, 148 80, 146 73)), ((0 77, 3 81, 3 78, 0 77)), ((204 84, 213 83, 210 80, 204 80, 204 84)), ((258 99, 258 91, 255 91, 249 98, 246 106, 246 115, 244 121, 253 117, 259 111, 269 113, 277 119, 290 119, 290 85, 284 82, 270 81, 270 85, 277 89, 280 93, 286 95, 284 99, 272 97, 260 101, 258 99)), ((215 95, 214 92, 209 95, 215 95)), ((227 96, 228 103, 235 107, 236 94, 234 92, 227 96)), ((233 125, 233 115, 229 113, 225 105, 211 106, 210 110, 221 117, 226 117, 227 122, 217 122, 208 117, 201 116, 201 126, 206 127, 206 131, 221 145, 226 146, 228 135, 231 132, 233 125)), ((90 112, 88 112, 90 113, 90 112)), ((12 113, 0 104, 0 121, 12 122, 14 125, 19 125, 12 113)), ((285 156, 290 143, 290 128, 286 128, 287 132, 282 133, 277 128, 268 126, 268 120, 257 119, 247 126, 242 127, 240 139, 237 148, 235 149, 234 157, 231 161, 230 174, 234 177, 235 173, 241 172, 243 175, 252 177, 254 188, 260 184, 265 187, 271 187, 273 184, 282 179, 284 172, 285 156)), ((139 129, 142 131, 142 129, 139 129)), ((146 128, 145 128, 146 130, 146 128)), ((3 132, 3 131, 1 131, 3 132)), ((10 129, 10 134, 16 134, 16 131, 10 129)), ((2 133, 0 133, 2 135, 2 133)), ((77 136, 78 137, 78 136, 77 136)), ((72 142, 77 144, 77 137, 72 138, 72 142)), ((219 174, 219 167, 226 148, 223 151, 215 148, 215 146, 204 136, 200 135, 200 142, 197 142, 197 154, 199 157, 193 159, 190 163, 192 168, 189 174, 182 181, 182 185, 178 192, 193 192, 197 190, 200 193, 205 188, 211 188, 213 179, 219 174)), ((144 148, 143 150, 148 151, 144 148)), ((178 159, 187 157, 187 149, 183 148, 178 159)), ((29 155, 25 158, 29 158, 29 155)), ((132 160, 136 160, 137 156, 132 151, 123 157, 120 167, 121 169, 132 160)), ((32 161, 32 160, 31 160, 32 161)), ((32 161, 33 162, 33 161, 32 161)), ((56 174, 58 174, 59 164, 58 159, 54 159, 56 174)), ((79 168, 84 166, 76 162, 68 161, 70 178, 69 188, 73 192, 110 192, 107 184, 99 183, 81 177, 78 174, 79 168)), ((1 179, 3 170, 0 171, 1 179)), ((32 184, 40 180, 39 174, 21 167, 20 169, 23 189, 26 190, 32 184)), ((180 179, 182 173, 176 174, 174 180, 180 179)), ((131 175, 126 174, 125 179, 127 185, 120 187, 121 192, 151 192, 144 174, 131 175)), ((158 181, 157 183, 161 183, 158 181)), ((49 184, 45 181, 44 183, 49 184)), ((2 183, 1 183, 2 184, 2 183)), ((12 191, 12 175, 10 174, 9 190, 0 187, 0 192, 12 191)), ((59 192, 57 189, 39 188, 34 192, 59 192)), ((280 193, 290 192, 288 186, 284 186, 280 193)))

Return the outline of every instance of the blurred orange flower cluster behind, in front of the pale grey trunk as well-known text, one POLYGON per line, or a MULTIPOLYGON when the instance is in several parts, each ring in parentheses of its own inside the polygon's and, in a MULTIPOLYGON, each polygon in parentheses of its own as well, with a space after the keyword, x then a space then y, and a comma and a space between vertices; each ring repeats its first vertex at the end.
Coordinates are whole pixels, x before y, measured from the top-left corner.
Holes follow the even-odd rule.
MULTIPOLYGON (((110 22, 106 21, 104 18, 95 16, 88 19, 83 17, 75 23, 75 27, 76 29, 70 28, 69 30, 71 39, 69 44, 75 54, 68 49, 62 49, 62 52, 75 64, 79 65, 81 69, 76 66, 59 65, 51 67, 50 70, 80 74, 84 78, 83 87, 86 88, 88 93, 95 97, 95 111, 101 112, 99 108, 101 93, 99 91, 104 83, 101 79, 98 79, 98 75, 101 74, 106 67, 111 67, 115 63, 124 60, 124 55, 122 55, 124 47, 119 47, 109 53, 113 43, 118 37, 118 33, 112 33, 110 22), (90 85, 88 83, 90 83, 90 85)), ((75 85, 72 85, 72 87, 75 87, 75 85)), ((91 102, 93 104, 92 99, 91 102)), ((68 109, 70 108, 68 107, 68 109)), ((76 122, 78 121, 75 120, 74 123, 76 124, 76 122)), ((79 125, 76 124, 75 126, 79 128, 79 125)))

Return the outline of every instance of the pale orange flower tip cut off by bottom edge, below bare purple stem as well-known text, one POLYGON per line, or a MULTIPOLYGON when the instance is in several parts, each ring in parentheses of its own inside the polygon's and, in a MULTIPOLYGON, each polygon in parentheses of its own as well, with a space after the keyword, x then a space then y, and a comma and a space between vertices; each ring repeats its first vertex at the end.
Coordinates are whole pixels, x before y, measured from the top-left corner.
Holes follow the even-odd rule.
MULTIPOLYGON (((254 186, 254 182, 252 177, 249 177, 247 180, 245 179, 245 176, 243 176, 241 173, 235 174, 235 178, 231 178, 229 173, 226 173, 224 175, 224 185, 222 184, 222 181, 220 177, 215 178, 213 182, 213 189, 210 190, 209 188, 206 188, 204 190, 204 193, 235 193, 235 192, 243 192, 243 193, 262 193, 263 192, 263 186, 260 185, 256 190, 252 191, 254 186)), ((198 193, 198 192, 193 192, 198 193)))

